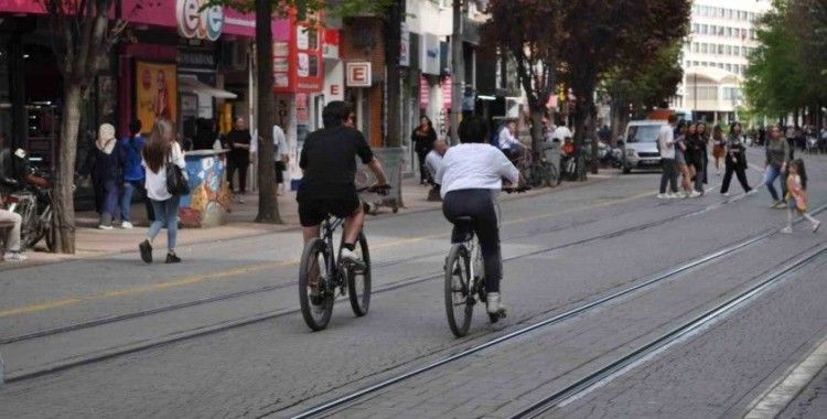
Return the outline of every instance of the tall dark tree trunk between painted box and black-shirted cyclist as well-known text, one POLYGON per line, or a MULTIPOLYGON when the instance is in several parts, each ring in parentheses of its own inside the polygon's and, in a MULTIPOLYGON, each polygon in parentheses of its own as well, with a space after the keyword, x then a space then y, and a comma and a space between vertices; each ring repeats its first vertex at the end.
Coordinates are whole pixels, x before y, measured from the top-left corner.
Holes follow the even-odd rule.
MULTIPOLYGON (((272 2, 256 0, 256 69, 258 95, 258 215, 256 223, 280 224, 276 198, 276 169, 273 162, 272 119, 275 103, 272 92, 272 30, 270 17, 272 2)), ((257 139, 253 139, 256 141, 257 139)), ((281 155, 279 155, 281 158, 281 155)))

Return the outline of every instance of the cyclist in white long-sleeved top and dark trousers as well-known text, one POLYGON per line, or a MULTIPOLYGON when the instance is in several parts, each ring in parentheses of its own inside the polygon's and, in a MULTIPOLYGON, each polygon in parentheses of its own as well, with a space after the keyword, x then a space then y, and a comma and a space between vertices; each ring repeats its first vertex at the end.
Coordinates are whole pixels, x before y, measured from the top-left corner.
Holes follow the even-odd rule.
POLYGON ((496 147, 486 142, 488 126, 479 117, 462 121, 458 130, 460 146, 448 150, 437 172, 442 185, 442 213, 454 224, 451 243, 461 243, 468 232, 457 226, 457 218, 471 217, 485 260, 487 311, 502 313, 500 280, 503 260, 500 251, 500 227, 494 200, 503 187, 503 179, 516 184, 519 171, 496 147))

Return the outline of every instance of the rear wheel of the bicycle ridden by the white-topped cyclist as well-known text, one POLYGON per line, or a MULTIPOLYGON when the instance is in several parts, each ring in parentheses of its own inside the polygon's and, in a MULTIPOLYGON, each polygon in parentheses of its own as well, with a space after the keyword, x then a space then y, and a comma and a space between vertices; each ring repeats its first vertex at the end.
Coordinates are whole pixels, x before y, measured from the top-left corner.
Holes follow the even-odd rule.
POLYGON ((471 290, 471 258, 464 245, 451 246, 445 259, 445 314, 457 337, 468 334, 474 300, 471 290))

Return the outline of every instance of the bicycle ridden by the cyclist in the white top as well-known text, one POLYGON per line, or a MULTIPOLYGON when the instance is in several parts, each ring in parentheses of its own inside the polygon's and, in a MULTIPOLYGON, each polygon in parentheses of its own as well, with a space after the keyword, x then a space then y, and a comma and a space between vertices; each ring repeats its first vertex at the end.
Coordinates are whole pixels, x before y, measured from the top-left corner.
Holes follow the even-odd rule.
MULTIPOLYGON (((506 193, 520 193, 529 187, 503 189, 506 193)), ((485 269, 480 241, 473 230, 472 217, 458 217, 457 228, 465 234, 461 243, 451 245, 444 266, 444 297, 448 326, 457 337, 468 334, 474 305, 482 301, 487 305, 485 269)), ((487 310, 486 310, 487 312, 487 310)), ((488 313, 488 321, 496 323, 506 314, 488 313)))

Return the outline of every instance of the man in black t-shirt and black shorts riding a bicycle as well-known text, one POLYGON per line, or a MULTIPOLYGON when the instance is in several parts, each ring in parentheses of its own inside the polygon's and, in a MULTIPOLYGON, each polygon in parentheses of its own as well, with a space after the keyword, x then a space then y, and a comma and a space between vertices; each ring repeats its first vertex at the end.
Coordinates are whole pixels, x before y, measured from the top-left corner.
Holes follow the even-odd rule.
POLYGON ((308 136, 301 150, 299 166, 303 178, 296 200, 305 244, 319 237, 319 227, 329 214, 345 218, 342 259, 362 265, 362 258, 354 251, 365 223, 354 184, 356 157, 376 175, 377 184, 372 190, 386 190, 388 185, 365 137, 353 128, 355 119, 351 104, 334 100, 324 107, 324 128, 308 136))

